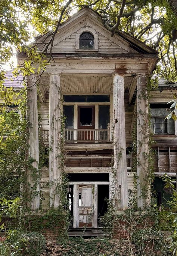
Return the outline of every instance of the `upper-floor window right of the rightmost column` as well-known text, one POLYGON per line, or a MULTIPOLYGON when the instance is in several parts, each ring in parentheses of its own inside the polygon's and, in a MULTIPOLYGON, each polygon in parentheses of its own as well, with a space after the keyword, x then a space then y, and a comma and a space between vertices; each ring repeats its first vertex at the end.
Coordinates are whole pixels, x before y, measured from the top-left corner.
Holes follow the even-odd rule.
POLYGON ((169 114, 167 108, 169 106, 165 104, 151 104, 151 122, 150 129, 153 134, 174 134, 174 120, 165 119, 169 114))

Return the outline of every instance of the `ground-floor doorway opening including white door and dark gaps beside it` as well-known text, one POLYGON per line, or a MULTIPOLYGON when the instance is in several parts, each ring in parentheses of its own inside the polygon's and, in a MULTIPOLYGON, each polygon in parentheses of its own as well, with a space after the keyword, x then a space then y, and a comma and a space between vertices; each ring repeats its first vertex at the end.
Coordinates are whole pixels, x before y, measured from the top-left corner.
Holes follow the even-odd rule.
POLYGON ((100 217, 108 208, 109 185, 83 184, 69 186, 69 211, 71 226, 102 227, 100 217))

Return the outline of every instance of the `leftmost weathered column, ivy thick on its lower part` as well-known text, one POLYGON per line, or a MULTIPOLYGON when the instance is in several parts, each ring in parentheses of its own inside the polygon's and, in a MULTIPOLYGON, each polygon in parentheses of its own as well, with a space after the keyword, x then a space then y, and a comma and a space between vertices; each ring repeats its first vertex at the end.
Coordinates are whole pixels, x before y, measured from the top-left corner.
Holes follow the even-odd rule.
POLYGON ((38 135, 38 111, 37 111, 37 85, 36 77, 27 77, 27 117, 28 117, 28 160, 32 160, 32 168, 27 169, 27 190, 29 202, 27 206, 35 211, 40 206, 39 197, 39 135, 38 135))

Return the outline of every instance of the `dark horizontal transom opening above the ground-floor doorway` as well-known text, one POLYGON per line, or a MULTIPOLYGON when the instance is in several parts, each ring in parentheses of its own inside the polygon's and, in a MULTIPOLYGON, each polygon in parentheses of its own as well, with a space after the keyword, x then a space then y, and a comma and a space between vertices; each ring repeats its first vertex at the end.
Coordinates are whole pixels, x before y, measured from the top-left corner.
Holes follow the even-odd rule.
POLYGON ((68 173, 69 181, 109 181, 109 173, 68 173))

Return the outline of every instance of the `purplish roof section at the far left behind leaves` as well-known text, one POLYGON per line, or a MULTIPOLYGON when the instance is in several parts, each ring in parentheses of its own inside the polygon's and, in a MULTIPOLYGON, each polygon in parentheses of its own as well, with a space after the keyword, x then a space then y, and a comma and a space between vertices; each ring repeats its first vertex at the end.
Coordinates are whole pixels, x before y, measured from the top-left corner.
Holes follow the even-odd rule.
POLYGON ((13 75, 13 69, 10 71, 7 71, 5 74, 5 79, 4 79, 4 86, 6 87, 13 87, 13 88, 23 88, 23 81, 24 77, 20 73, 17 77, 14 77, 13 75))

